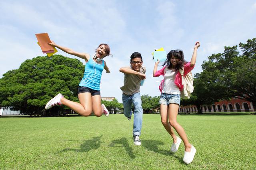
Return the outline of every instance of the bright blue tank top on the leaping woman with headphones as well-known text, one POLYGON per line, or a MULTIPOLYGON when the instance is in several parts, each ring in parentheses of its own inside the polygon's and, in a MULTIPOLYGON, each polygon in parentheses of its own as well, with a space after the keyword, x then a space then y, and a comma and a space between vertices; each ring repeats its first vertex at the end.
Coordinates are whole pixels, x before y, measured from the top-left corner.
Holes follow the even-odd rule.
POLYGON ((100 90, 100 79, 104 69, 104 60, 102 64, 96 63, 92 57, 87 61, 84 69, 84 77, 79 86, 88 87, 93 90, 100 90))

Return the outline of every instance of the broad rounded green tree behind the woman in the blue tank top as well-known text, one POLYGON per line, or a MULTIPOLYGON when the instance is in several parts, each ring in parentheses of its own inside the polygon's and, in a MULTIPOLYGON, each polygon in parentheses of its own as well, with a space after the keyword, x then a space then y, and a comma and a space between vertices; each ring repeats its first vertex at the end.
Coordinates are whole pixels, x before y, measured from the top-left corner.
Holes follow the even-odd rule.
POLYGON ((77 86, 83 71, 82 62, 62 55, 28 59, 0 79, 0 105, 33 114, 42 112, 58 93, 78 101, 77 86))

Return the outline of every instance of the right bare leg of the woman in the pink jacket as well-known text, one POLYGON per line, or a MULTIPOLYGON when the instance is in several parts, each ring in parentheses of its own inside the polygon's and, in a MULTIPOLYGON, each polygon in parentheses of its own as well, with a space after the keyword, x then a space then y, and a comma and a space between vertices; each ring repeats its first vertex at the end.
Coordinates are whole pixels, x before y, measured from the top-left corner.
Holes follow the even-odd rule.
POLYGON ((179 105, 175 104, 175 103, 171 103, 169 105, 169 110, 168 110, 168 115, 169 115, 169 123, 172 127, 174 127, 174 129, 176 130, 176 132, 179 134, 179 136, 181 137, 184 145, 185 145, 185 151, 186 152, 190 152, 191 150, 191 144, 188 142, 188 138, 187 135, 184 131, 184 129, 182 128, 182 126, 180 126, 180 124, 177 122, 177 115, 178 115, 178 110, 179 110, 179 105))

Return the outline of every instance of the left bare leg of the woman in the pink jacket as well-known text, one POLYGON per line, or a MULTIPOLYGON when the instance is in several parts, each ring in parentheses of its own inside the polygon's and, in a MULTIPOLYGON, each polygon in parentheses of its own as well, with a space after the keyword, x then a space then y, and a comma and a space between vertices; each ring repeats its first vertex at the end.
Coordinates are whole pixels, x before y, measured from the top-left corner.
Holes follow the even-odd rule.
POLYGON ((160 104, 161 121, 166 131, 172 136, 173 142, 176 143, 176 135, 170 123, 168 122, 168 106, 160 104))

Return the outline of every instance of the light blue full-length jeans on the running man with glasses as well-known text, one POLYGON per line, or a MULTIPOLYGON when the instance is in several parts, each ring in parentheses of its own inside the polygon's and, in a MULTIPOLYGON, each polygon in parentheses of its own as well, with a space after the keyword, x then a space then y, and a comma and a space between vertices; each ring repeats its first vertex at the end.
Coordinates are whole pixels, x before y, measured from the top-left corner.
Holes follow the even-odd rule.
POLYGON ((142 114, 143 110, 141 107, 140 93, 135 93, 133 95, 126 95, 123 93, 122 96, 124 105, 124 115, 125 117, 132 116, 132 104, 134 105, 134 118, 133 118, 133 136, 140 136, 140 130, 142 127, 142 114))

